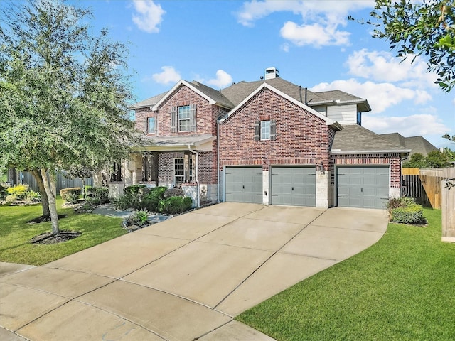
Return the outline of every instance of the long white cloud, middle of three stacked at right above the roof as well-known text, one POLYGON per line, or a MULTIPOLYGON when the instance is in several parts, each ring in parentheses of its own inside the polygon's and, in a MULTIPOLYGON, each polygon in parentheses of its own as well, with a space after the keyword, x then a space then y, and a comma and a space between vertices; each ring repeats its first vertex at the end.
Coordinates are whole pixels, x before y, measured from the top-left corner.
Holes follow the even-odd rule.
POLYGON ((341 90, 355 96, 368 99, 370 107, 375 113, 383 112, 392 105, 405 100, 413 99, 415 103, 422 104, 432 97, 424 90, 412 90, 397 87, 391 83, 358 82, 353 78, 349 80, 335 80, 331 83, 320 83, 311 87, 311 91, 341 90))

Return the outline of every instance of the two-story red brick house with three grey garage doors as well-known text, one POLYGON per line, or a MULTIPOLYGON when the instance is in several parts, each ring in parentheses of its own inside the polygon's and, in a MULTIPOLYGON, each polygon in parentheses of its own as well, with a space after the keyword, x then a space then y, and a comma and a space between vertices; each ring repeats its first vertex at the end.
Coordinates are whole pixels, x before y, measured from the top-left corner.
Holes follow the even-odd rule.
MULTIPOLYGON (((265 79, 215 90, 181 80, 134 105, 150 144, 121 183, 180 185, 200 202, 382 207, 409 150, 363 128, 366 99, 265 79)), ((114 179, 120 180, 120 179, 114 179)))

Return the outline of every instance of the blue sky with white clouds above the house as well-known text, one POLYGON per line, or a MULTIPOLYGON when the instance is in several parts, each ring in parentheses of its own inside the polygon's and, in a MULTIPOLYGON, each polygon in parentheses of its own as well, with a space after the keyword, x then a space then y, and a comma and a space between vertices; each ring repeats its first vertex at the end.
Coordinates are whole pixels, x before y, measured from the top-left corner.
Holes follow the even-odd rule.
MULTIPOLYGON (((437 147, 455 134, 455 90, 434 85, 426 63, 400 63, 365 20, 374 1, 78 0, 95 31, 131 43, 134 94, 142 99, 178 80, 214 88, 259 80, 266 67, 313 91, 342 90, 368 99, 363 126, 378 134, 422 135, 437 147)), ((412 58, 409 58, 410 60, 412 58)))

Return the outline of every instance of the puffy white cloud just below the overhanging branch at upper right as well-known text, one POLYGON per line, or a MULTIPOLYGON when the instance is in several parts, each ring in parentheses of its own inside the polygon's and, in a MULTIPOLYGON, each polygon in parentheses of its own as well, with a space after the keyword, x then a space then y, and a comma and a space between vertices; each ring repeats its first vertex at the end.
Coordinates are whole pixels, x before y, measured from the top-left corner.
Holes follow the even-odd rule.
POLYGON ((404 61, 390 52, 362 49, 349 55, 346 61, 348 73, 378 82, 402 82, 407 87, 436 87, 437 75, 427 72, 427 63, 414 55, 404 61))

